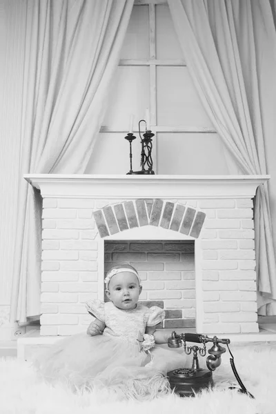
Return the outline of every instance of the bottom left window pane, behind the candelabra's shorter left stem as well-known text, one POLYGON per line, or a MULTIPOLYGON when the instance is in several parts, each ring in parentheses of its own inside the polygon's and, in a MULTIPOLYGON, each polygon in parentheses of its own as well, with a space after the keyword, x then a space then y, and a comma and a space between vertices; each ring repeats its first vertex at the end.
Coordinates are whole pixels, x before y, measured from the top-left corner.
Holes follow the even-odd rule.
MULTIPOLYGON (((99 133, 86 174, 126 174, 130 170, 129 143, 123 133, 99 133)), ((132 170, 139 171, 141 144, 132 142, 132 170)))

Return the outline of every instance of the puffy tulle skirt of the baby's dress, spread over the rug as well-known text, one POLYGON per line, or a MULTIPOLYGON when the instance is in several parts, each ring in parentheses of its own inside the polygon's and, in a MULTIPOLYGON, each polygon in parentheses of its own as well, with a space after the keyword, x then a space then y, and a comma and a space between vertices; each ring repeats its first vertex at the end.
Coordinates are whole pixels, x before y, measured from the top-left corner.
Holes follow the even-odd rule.
POLYGON ((48 382, 65 382, 73 390, 103 387, 143 398, 169 393, 166 373, 186 366, 186 355, 158 345, 140 351, 138 343, 81 333, 59 340, 33 364, 48 382))

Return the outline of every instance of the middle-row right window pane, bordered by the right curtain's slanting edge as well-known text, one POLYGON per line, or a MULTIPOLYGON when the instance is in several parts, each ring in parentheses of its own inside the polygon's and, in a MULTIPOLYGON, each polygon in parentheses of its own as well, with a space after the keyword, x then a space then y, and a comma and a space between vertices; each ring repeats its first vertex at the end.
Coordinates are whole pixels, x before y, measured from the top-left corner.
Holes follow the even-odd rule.
POLYGON ((157 124, 213 128, 186 67, 157 67, 157 124))

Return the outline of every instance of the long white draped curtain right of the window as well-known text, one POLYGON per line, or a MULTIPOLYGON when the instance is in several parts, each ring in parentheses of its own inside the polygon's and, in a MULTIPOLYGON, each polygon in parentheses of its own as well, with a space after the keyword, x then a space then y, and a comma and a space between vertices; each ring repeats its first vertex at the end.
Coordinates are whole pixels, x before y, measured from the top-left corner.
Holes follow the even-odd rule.
MULTIPOLYGON (((168 5, 190 76, 219 136, 244 174, 266 174, 264 142, 273 137, 265 121, 266 94, 275 90, 275 3, 168 0, 168 5)), ((276 315, 266 185, 257 190, 254 215, 259 313, 276 315)))

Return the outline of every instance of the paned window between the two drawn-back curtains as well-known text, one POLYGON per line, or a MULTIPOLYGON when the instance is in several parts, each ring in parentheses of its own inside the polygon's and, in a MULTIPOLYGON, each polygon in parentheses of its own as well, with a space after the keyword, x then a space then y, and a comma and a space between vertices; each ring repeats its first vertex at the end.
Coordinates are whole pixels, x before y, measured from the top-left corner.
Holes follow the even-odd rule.
MULTIPOLYGON (((193 86, 166 1, 135 4, 110 99, 87 172, 126 174, 124 139, 133 114, 133 170, 139 170, 138 122, 150 109, 153 170, 158 174, 227 174, 224 144, 193 86)), ((228 155, 229 157, 229 155, 228 155)))

